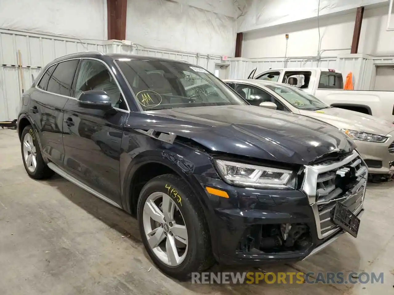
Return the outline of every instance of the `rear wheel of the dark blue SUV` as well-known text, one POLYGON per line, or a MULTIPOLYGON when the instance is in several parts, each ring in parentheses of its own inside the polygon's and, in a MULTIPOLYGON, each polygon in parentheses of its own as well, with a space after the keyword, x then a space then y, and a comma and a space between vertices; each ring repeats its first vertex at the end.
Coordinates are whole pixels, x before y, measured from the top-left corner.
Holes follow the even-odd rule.
POLYGON ((27 125, 23 129, 20 140, 20 147, 22 152, 23 164, 26 172, 30 177, 32 177, 33 179, 48 179, 52 175, 54 175, 55 172, 50 170, 44 162, 43 156, 41 155, 41 149, 38 144, 37 134, 35 133, 31 125, 27 125), (33 145, 33 147, 31 147, 31 145, 33 145), (31 158, 29 158, 28 155, 31 155, 31 158), (30 162, 32 164, 30 164, 30 162), (34 162, 35 166, 33 165, 34 162))

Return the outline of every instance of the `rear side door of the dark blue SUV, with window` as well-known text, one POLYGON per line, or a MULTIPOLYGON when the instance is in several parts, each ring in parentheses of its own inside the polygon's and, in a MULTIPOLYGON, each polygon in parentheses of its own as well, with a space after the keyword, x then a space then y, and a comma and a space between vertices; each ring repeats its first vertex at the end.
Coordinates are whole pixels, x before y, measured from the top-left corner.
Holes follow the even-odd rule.
POLYGON ((71 94, 72 79, 79 60, 50 66, 30 95, 30 116, 39 131, 42 153, 58 166, 63 165, 63 107, 71 94))

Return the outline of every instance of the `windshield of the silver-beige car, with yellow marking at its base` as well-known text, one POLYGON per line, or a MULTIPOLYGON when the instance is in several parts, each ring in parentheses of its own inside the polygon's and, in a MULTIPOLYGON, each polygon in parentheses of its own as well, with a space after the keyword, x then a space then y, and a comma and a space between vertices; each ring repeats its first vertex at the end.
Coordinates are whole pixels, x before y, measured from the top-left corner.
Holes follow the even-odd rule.
POLYGON ((316 111, 320 109, 327 109, 330 106, 326 105, 316 97, 308 94, 296 87, 289 87, 285 85, 265 85, 268 89, 279 94, 284 100, 296 107, 297 109, 316 111))

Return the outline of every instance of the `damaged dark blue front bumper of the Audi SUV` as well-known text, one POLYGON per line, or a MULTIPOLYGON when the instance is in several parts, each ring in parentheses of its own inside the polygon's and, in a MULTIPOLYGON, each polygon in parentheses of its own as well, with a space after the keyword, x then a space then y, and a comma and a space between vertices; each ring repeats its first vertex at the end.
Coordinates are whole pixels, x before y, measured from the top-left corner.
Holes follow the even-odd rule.
MULTIPOLYGON (((356 154, 353 154, 352 161, 355 160, 356 156, 359 157, 356 154)), ((322 167, 320 165, 317 168, 322 167)), ((324 167, 331 170, 333 168, 332 166, 324 167)), ((309 168, 309 171, 317 171, 317 168, 313 166, 307 166, 307 168, 309 168)), ((336 168, 339 168, 339 166, 336 168)), ((362 186, 357 188, 357 192, 354 194, 338 199, 357 216, 362 214, 364 201, 367 177, 366 168, 364 169, 365 174, 362 179, 365 180, 365 184, 362 183, 362 186)), ((218 262, 221 264, 247 265, 294 262, 317 253, 336 240, 343 231, 333 225, 329 217, 326 219, 332 212, 333 207, 329 210, 326 210, 326 208, 335 201, 316 202, 316 185, 314 186, 315 196, 311 195, 308 188, 305 187, 308 183, 305 182, 305 179, 313 179, 312 174, 310 172, 305 173, 304 182, 299 190, 240 188, 224 183, 221 179, 194 175, 203 188, 206 186, 217 188, 226 191, 229 195, 229 198, 224 198, 205 191, 214 212, 208 218, 211 218, 210 223, 215 225, 215 232, 214 234, 211 233, 211 236, 212 239, 215 239, 213 244, 217 246, 217 249, 213 250, 218 262), (322 208, 327 213, 324 213, 321 210, 322 208), (306 226, 310 239, 307 247, 294 251, 279 252, 256 249, 258 248, 256 245, 260 245, 259 241, 256 242, 256 229, 282 224, 306 226), (247 243, 249 243, 249 247, 247 243)), ((258 232, 258 236, 261 236, 260 232, 258 232)))

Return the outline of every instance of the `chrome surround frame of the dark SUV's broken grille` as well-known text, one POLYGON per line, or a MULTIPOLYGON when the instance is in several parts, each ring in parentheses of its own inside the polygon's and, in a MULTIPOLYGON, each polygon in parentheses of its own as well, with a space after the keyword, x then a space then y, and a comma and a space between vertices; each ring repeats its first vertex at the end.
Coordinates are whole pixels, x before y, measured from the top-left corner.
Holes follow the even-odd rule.
MULTIPOLYGON (((362 159, 362 157, 359 155, 359 153, 356 150, 353 150, 353 153, 351 155, 349 155, 348 157, 346 157, 345 159, 343 159, 343 160, 341 160, 339 162, 334 162, 334 163, 328 164, 328 165, 317 164, 317 165, 305 166, 305 176, 304 176, 304 179, 303 179, 303 183, 301 184, 301 190, 305 193, 305 195, 307 195, 307 197, 309 199, 309 204, 310 204, 310 206, 312 208, 314 219, 315 219, 315 223, 316 223, 317 235, 318 235, 318 238, 320 240, 323 239, 323 238, 326 238, 327 236, 331 236, 335 232, 338 232, 339 230, 341 230, 341 228, 340 227, 335 227, 334 229, 329 230, 328 232, 325 232, 324 234, 322 234, 322 228, 320 227, 320 223, 322 221, 320 220, 319 210, 318 210, 318 205, 321 205, 321 203, 318 203, 317 200, 316 200, 316 189, 317 189, 317 178, 318 178, 318 175, 320 173, 324 173, 324 172, 331 171, 331 170, 334 170, 336 168, 342 167, 345 164, 348 164, 351 160, 356 159, 357 157, 359 157, 359 159, 361 160, 362 164, 367 167, 367 165, 365 164, 364 160, 362 159)), ((365 176, 365 184, 363 184, 364 188, 363 188, 363 192, 362 192, 362 202, 361 202, 361 205, 359 205, 354 210, 353 214, 355 214, 355 215, 359 214, 359 212, 361 212, 361 210, 364 208, 364 199, 365 199, 365 192, 366 192, 366 187, 367 187, 366 182, 368 180, 368 169, 366 169, 365 173, 366 173, 366 176, 365 176)), ((353 196, 354 196, 354 194, 353 195, 347 195, 345 197, 342 197, 340 199, 335 199, 333 201, 337 201, 337 200, 341 201, 341 200, 344 200, 344 199, 351 198, 353 196)), ((359 199, 357 199, 357 201, 358 200, 359 199)), ((325 203, 327 203, 327 202, 325 202, 325 203)), ((330 202, 328 202, 328 203, 330 203, 330 202)), ((324 212, 326 212, 326 211, 324 211, 324 212)), ((329 227, 327 227, 327 228, 329 228, 329 227)))

